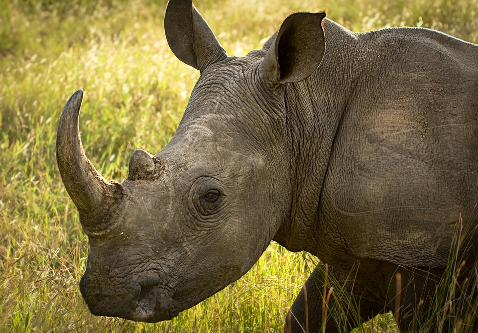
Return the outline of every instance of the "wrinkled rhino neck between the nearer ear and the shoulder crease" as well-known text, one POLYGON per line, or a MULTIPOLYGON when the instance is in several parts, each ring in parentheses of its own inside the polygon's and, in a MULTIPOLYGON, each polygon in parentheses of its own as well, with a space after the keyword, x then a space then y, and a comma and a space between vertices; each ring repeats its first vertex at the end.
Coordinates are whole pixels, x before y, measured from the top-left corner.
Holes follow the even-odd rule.
MULTIPOLYGON (((326 53, 307 80, 286 87, 287 125, 292 140, 293 177, 290 217, 274 240, 291 251, 319 255, 317 237, 322 185, 334 141, 357 82, 356 34, 327 20, 326 53)), ((320 229, 320 228, 319 228, 320 229)))

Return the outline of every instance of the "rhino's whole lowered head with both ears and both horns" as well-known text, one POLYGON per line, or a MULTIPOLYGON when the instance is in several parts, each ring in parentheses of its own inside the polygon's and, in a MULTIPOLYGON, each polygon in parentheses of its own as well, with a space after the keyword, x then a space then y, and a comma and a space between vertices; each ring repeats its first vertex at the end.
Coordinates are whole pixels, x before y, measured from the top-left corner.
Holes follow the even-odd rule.
POLYGON ((80 290, 93 314, 172 319, 239 279, 287 231, 295 162, 285 86, 319 65, 324 16, 293 14, 277 38, 238 58, 190 0, 171 0, 168 43, 201 76, 174 137, 154 156, 134 151, 122 183, 105 180, 85 156, 83 92, 68 100, 57 161, 89 238, 80 290), (312 46, 304 42, 311 34, 320 37, 312 46))

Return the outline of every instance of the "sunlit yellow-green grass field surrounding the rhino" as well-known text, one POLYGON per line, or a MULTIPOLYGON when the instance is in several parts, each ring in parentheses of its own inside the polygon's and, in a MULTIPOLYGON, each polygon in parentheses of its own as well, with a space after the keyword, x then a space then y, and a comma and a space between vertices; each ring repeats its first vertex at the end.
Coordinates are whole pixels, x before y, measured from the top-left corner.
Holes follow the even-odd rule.
MULTIPOLYGON (((325 8, 354 31, 423 26, 478 42, 476 0, 195 4, 231 55, 259 48, 290 12, 325 8)), ((85 90, 82 140, 107 178, 127 176, 134 149, 159 151, 199 76, 168 49, 165 7, 165 0, 0 0, 0 332, 281 332, 316 259, 277 244, 244 278, 171 322, 94 317, 78 290, 88 242, 57 171, 60 112, 85 90)), ((387 317, 376 323, 366 332, 393 330, 387 317)))

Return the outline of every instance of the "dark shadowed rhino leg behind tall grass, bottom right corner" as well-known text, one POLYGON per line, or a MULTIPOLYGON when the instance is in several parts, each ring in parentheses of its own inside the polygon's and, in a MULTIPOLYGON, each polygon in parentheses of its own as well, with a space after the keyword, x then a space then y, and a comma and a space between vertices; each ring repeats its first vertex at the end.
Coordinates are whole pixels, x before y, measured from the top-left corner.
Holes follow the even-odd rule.
POLYGON ((394 268, 387 303, 400 332, 452 333, 460 332, 460 328, 463 332, 478 332, 478 320, 470 310, 477 289, 468 282, 467 269, 470 268, 461 269, 462 276, 458 272, 443 280, 443 269, 394 268))

